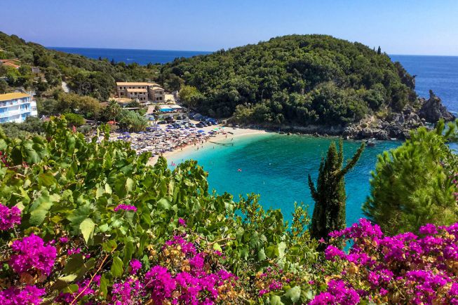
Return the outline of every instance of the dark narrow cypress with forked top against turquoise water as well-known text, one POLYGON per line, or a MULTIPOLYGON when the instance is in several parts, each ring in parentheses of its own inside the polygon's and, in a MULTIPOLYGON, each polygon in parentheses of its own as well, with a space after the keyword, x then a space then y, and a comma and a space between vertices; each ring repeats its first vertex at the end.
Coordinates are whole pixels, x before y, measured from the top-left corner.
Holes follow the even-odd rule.
POLYGON ((309 175, 309 188, 315 201, 314 214, 311 218, 310 234, 312 238, 329 238, 332 231, 345 228, 345 180, 346 175, 364 150, 364 143, 353 158, 342 168, 344 162, 343 144, 339 140, 339 150, 335 142, 328 149, 326 158, 321 161, 316 187, 309 175))

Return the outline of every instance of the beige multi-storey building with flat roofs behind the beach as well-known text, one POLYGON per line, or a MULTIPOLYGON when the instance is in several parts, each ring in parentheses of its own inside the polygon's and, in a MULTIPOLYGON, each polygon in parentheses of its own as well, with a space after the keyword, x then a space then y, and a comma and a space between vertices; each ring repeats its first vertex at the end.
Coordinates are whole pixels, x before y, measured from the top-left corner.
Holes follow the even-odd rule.
POLYGON ((116 95, 139 102, 164 101, 164 90, 157 83, 116 82, 116 95))

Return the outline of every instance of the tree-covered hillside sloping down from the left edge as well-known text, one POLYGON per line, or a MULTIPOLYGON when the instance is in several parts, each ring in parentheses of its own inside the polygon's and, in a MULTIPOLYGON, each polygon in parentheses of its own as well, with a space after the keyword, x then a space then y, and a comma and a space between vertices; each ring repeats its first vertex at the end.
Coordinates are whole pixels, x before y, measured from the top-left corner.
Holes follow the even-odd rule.
POLYGON ((48 50, 37 43, 0 32, 0 59, 13 58, 20 60, 20 68, 0 67, 0 78, 6 76, 7 82, 0 80, 0 93, 23 87, 41 95, 50 88, 60 88, 63 80, 75 93, 105 101, 114 90, 115 81, 154 81, 159 72, 157 65, 142 67, 109 59, 92 60, 48 50), (32 73, 31 67, 39 67, 39 73, 32 73))

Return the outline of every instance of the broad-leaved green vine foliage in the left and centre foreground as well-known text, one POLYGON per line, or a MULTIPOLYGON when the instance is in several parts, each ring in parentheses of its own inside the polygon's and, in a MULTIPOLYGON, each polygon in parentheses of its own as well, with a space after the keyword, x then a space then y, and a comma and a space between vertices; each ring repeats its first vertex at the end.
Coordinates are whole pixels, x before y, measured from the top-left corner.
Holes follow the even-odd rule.
MULTIPOLYGON (((297 285, 309 287, 318 253, 305 229, 305 207, 297 205, 290 230, 280 210, 264 211, 257 196, 234 203, 229 194, 210 193, 207 173, 195 161, 173 171, 163 158, 147 165, 149 154, 137 156, 128 143, 108 141, 107 126, 98 135, 105 140, 86 140, 58 118, 46 123, 46 139, 13 139, 0 128, 0 151, 8 156, 7 164, 0 163, 0 202, 22 210, 17 231, 45 240, 63 233, 91 253, 90 259, 76 254, 62 262, 55 284, 59 289, 71 290, 97 266, 111 270, 101 280, 103 290, 126 275, 131 258, 149 266, 156 259, 151 251, 160 251, 177 233, 180 217, 198 234, 194 243, 223 251, 239 276, 249 278, 274 265, 294 273, 300 279, 297 285), (137 211, 115 212, 121 203, 135 205, 137 211)), ((249 289, 257 298, 256 290, 249 289)), ((297 299, 299 288, 285 286, 275 294, 297 299)))

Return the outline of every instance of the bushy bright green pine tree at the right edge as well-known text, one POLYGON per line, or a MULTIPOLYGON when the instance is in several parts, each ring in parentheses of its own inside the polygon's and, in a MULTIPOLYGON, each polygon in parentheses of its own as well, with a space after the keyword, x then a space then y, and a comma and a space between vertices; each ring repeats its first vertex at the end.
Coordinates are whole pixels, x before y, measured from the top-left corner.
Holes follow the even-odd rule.
POLYGON ((387 234, 456 222, 458 159, 447 145, 456 140, 456 124, 447 130, 443 122, 436 130, 419 128, 402 146, 378 157, 363 211, 387 234))

